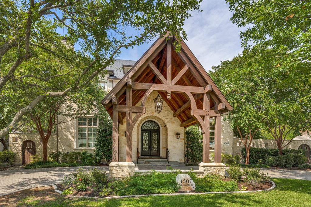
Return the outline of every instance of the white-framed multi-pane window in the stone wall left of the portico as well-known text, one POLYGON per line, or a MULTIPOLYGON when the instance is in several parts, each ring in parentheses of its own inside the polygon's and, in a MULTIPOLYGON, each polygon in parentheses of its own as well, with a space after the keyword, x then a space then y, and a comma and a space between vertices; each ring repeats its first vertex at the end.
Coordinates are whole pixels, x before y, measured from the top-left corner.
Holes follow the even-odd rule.
POLYGON ((98 117, 78 118, 78 147, 93 148, 96 143, 96 131, 101 121, 98 117))

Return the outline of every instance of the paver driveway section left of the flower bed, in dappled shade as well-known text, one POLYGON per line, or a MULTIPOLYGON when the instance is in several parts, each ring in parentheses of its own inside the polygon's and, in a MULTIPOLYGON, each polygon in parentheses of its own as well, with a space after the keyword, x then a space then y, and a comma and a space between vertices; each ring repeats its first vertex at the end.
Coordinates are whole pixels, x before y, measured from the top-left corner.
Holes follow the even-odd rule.
POLYGON ((108 166, 4 170, 0 171, 0 196, 57 183, 78 168, 109 170, 108 166))

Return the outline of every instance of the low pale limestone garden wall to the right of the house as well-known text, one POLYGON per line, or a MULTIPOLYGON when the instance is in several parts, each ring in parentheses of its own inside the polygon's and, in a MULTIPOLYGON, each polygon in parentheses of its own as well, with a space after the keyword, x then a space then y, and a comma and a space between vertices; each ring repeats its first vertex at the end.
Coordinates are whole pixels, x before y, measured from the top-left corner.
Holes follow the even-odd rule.
MULTIPOLYGON (((283 145, 286 145, 289 140, 285 140, 283 145)), ((252 140, 253 147, 257 148, 270 148, 270 149, 277 149, 276 141, 275 140, 262 140, 262 139, 253 139, 252 140)), ((298 150, 299 146, 302 144, 309 145, 311 148, 311 141, 310 140, 292 140, 289 145, 285 148, 287 149, 295 149, 298 150)), ((244 148, 244 144, 240 139, 233 139, 233 155, 240 155, 241 156, 241 149, 244 148)), ((242 156, 241 156, 242 158, 242 156)))

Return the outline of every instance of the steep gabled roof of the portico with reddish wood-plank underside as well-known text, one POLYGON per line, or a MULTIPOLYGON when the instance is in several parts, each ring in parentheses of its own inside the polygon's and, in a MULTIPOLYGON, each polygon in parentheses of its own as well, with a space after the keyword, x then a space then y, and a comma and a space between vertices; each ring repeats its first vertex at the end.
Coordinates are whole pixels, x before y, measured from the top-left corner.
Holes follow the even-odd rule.
MULTIPOLYGON (((102 104, 108 111, 109 115, 112 115, 112 96, 118 97, 119 105, 126 105, 126 85, 127 80, 132 79, 132 82, 138 83, 150 83, 150 84, 161 84, 163 81, 159 79, 159 74, 166 77, 166 52, 167 52, 167 41, 169 32, 167 32, 163 37, 159 37, 151 47, 142 55, 142 57, 135 63, 135 65, 128 71, 128 73, 118 82, 118 84, 107 94, 107 96, 102 100, 102 104), (154 69, 151 68, 150 62, 156 67, 156 74, 154 69)), ((176 40, 173 37, 173 41, 176 40)), ((178 77, 179 80, 175 80, 175 85, 181 86, 194 86, 203 87, 206 85, 211 85, 212 91, 210 92, 210 107, 213 109, 214 103, 224 103, 225 109, 223 113, 232 110, 231 105, 225 99, 225 96, 220 92, 215 83, 212 81, 211 77, 204 70, 200 62, 195 58, 193 53, 190 51, 188 46, 183 40, 181 40, 181 51, 179 53, 175 52, 174 46, 171 49, 171 80, 173 80, 179 71, 187 65, 186 72, 178 77)), ((161 76, 161 75, 160 75, 161 76)), ((132 101, 133 105, 136 105, 144 96, 145 90, 133 90, 132 91, 132 101)), ((194 93, 194 92, 193 92, 194 93)), ((190 114, 190 106, 187 105, 188 99, 183 93, 172 93, 171 99, 166 98, 165 91, 159 91, 159 94, 173 110, 174 116, 177 116, 181 122, 185 122, 192 118, 190 114), (188 107, 187 107, 188 106, 188 107), (183 110, 183 111, 182 111, 183 110)), ((197 109, 202 109, 202 96, 197 94, 194 96, 197 104, 197 109)), ((124 118, 125 113, 121 114, 124 118)), ((189 126, 193 124, 190 123, 189 126)))

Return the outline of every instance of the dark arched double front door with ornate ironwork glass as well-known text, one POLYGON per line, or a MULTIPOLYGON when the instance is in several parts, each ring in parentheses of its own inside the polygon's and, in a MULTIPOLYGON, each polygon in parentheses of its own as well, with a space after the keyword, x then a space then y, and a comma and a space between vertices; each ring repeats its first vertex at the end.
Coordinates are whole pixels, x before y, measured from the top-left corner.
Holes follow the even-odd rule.
POLYGON ((160 156, 160 127, 154 121, 142 125, 141 156, 160 156))

